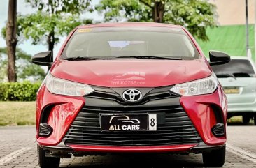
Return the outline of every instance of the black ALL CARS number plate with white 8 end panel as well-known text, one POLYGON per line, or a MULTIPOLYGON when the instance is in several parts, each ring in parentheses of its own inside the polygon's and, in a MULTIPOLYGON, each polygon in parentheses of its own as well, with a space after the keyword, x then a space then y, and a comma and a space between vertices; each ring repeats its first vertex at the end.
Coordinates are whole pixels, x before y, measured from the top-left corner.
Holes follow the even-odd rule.
POLYGON ((101 131, 157 130, 157 114, 100 114, 101 131))

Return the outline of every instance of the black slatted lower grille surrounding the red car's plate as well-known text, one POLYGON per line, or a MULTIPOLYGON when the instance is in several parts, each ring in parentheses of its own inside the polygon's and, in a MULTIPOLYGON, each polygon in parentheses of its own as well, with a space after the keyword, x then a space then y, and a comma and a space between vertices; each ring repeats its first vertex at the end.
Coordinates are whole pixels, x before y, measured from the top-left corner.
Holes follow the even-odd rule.
POLYGON ((164 146, 198 144, 200 137, 186 112, 180 106, 171 107, 89 107, 80 111, 64 137, 66 144, 99 146, 164 146), (99 114, 151 113, 161 115, 157 131, 101 132, 99 114))

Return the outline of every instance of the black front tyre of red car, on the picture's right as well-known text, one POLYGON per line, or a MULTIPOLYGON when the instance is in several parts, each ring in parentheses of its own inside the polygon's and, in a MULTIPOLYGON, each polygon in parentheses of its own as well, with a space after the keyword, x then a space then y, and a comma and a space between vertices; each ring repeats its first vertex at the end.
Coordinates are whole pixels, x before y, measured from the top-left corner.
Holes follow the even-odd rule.
POLYGON ((226 145, 208 153, 203 153, 203 162, 206 167, 222 167, 225 163, 226 145))

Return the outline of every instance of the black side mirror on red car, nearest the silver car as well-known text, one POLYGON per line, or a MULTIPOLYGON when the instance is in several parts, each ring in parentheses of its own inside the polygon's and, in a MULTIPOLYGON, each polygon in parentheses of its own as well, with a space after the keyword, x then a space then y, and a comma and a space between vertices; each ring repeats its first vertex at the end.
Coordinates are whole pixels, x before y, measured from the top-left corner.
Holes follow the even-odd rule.
POLYGON ((228 63, 230 61, 230 56, 225 52, 210 51, 209 56, 210 56, 210 61, 209 61, 210 66, 221 65, 221 64, 228 63))

